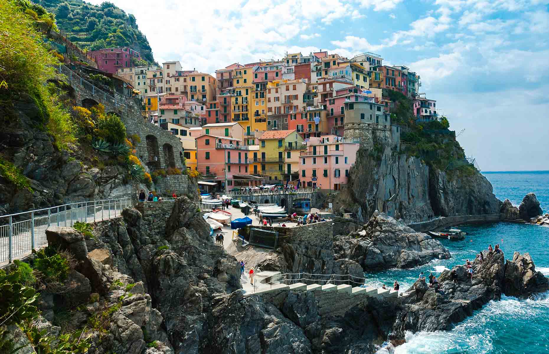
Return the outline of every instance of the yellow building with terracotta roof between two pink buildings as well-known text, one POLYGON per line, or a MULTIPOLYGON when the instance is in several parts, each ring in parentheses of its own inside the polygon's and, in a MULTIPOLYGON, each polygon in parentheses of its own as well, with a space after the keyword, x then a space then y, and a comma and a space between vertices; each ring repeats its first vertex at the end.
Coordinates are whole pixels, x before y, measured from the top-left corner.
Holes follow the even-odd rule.
POLYGON ((267 131, 259 141, 260 173, 265 183, 283 183, 298 171, 299 150, 292 147, 300 147, 304 140, 295 130, 267 131))

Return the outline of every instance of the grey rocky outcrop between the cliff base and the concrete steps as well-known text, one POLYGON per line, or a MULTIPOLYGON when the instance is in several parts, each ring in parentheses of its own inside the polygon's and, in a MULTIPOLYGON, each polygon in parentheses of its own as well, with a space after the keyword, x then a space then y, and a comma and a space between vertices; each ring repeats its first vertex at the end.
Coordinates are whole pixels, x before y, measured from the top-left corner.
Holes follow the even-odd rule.
POLYGON ((450 252, 438 240, 378 213, 361 231, 338 236, 333 250, 335 259, 354 260, 364 271, 410 268, 433 259, 450 258, 450 252))

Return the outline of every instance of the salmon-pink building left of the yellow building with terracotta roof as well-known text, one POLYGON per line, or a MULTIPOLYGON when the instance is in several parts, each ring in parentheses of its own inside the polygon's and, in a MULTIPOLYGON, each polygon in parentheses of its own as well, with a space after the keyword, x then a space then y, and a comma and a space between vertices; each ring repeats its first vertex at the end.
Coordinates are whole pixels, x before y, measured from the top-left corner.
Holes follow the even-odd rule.
POLYGON ((262 178, 250 176, 253 162, 248 146, 231 137, 204 134, 196 139, 197 170, 201 181, 216 183, 216 190, 259 186, 262 178))

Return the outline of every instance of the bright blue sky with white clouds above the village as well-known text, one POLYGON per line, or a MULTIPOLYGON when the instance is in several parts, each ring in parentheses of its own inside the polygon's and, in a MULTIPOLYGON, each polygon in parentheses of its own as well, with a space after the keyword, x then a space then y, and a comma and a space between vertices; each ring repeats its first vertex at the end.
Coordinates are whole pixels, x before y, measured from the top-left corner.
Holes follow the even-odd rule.
POLYGON ((549 0, 110 1, 184 70, 380 54, 421 76, 481 170, 549 170, 549 0))

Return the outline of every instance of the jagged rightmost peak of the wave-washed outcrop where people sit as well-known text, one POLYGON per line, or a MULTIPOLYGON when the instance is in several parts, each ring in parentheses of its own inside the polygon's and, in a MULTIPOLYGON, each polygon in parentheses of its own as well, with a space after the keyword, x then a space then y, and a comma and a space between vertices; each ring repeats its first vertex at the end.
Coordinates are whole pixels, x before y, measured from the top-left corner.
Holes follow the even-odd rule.
POLYGON ((541 272, 536 272, 530 254, 514 252, 513 260, 505 262, 503 292, 508 296, 528 297, 549 289, 549 282, 541 272))

